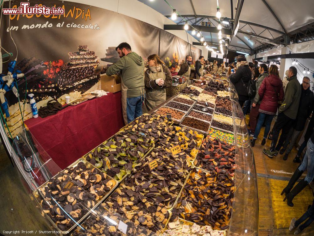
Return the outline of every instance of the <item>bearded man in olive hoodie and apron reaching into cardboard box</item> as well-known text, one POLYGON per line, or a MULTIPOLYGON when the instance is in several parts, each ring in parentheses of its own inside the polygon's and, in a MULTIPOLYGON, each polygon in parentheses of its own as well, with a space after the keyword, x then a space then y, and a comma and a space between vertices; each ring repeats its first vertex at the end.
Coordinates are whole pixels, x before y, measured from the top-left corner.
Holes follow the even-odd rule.
POLYGON ((130 123, 143 114, 144 61, 141 56, 132 52, 131 46, 126 42, 120 43, 116 51, 120 59, 107 69, 106 75, 121 75, 123 119, 125 123, 130 123))

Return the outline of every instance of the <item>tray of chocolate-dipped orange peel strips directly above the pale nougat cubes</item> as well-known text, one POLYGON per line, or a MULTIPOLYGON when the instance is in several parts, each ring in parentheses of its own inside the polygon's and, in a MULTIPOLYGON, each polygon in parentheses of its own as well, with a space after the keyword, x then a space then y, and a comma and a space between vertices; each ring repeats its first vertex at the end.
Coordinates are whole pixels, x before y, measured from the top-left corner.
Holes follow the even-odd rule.
POLYGON ((200 226, 226 230, 232 214, 234 189, 229 174, 193 168, 175 207, 176 214, 200 226))

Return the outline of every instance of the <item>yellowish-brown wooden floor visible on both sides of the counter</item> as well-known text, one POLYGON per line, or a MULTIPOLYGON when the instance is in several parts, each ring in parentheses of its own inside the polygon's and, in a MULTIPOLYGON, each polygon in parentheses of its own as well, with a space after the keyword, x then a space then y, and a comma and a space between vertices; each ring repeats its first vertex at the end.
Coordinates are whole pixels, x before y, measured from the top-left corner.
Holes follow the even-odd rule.
MULTIPOLYGON (((294 207, 289 207, 280 196, 298 164, 293 163, 296 149, 290 153, 288 160, 278 155, 273 159, 263 155, 260 145, 264 128, 253 148, 259 198, 259 235, 293 235, 289 232, 290 220, 300 217, 312 203, 311 188, 306 187, 294 199, 294 207)), ((265 146, 270 146, 268 140, 265 146)), ((305 176, 305 175, 304 175, 305 176)), ((37 230, 49 230, 40 212, 35 208, 29 195, 25 192, 19 177, 11 165, 3 145, 0 145, 0 234, 3 230, 34 230, 34 233, 16 235, 38 235, 37 230)), ((7 234, 4 234, 7 235, 7 234)), ((42 234, 52 235, 52 234, 42 234)), ((314 235, 314 223, 299 235, 314 235)))

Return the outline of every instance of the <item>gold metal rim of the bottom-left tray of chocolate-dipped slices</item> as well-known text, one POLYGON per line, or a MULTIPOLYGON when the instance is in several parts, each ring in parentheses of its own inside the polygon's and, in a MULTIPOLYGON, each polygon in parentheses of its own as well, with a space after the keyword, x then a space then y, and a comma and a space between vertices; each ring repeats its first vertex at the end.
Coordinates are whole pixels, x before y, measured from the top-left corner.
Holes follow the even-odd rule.
MULTIPOLYGON (((87 160, 85 160, 85 159, 83 159, 83 158, 80 158, 80 159, 76 160, 74 163, 72 163, 72 164, 71 164, 70 166, 68 166, 67 168, 75 167, 75 166, 78 165, 79 162, 83 162, 83 163, 86 165, 86 167, 88 167, 88 168, 89 168, 89 167, 93 167, 93 168, 96 168, 99 172, 102 172, 102 171, 100 171, 100 169, 98 169, 97 167, 95 167, 94 165, 92 165, 91 163, 89 163, 87 160)), ((63 170, 62 170, 62 171, 63 171, 63 170)), ((59 172, 59 173, 60 173, 60 172, 59 172)), ((52 178, 56 177, 59 173, 57 173, 57 174, 56 174, 55 176, 53 176, 52 178)), ((95 206, 94 206, 93 208, 91 208, 84 216, 82 216, 82 217, 77 221, 77 224, 79 224, 82 220, 84 220, 84 218, 85 218, 86 216, 88 216, 89 213, 90 213, 91 211, 93 211, 103 200, 105 200, 105 199, 115 190, 115 188, 118 186, 118 182, 117 182, 114 178, 110 177, 109 175, 107 175, 106 177, 107 177, 107 178, 110 178, 112 181, 114 181, 114 183, 116 183, 115 186, 114 186, 113 188, 111 188, 111 190, 110 190, 105 196, 101 197, 101 198, 98 200, 98 202, 95 204, 95 206)), ((51 178, 51 179, 52 179, 52 178, 51 178)), ((50 180, 48 180, 46 183, 42 184, 41 186, 39 186, 38 188, 36 188, 36 189, 33 191, 34 198, 36 199, 36 202, 37 202, 37 204, 40 206, 41 210, 42 210, 42 206, 41 206, 41 203, 40 203, 41 201, 39 200, 39 197, 40 197, 39 191, 41 191, 40 189, 47 187, 49 181, 50 181, 50 180)), ((52 225, 55 225, 55 227, 56 227, 62 234, 67 234, 68 232, 72 231, 72 230, 76 227, 76 225, 77 225, 77 224, 74 223, 74 225, 71 226, 71 228, 69 228, 67 231, 63 231, 63 230, 61 230, 61 229, 58 228, 56 222, 54 222, 48 214, 44 213, 44 215, 45 215, 45 217, 49 220, 49 222, 52 223, 52 225)))

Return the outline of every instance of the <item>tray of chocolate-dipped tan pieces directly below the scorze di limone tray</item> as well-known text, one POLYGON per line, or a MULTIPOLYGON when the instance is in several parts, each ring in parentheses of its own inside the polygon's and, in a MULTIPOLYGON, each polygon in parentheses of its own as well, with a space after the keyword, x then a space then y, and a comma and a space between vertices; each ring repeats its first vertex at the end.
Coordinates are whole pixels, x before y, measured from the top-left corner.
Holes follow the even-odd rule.
POLYGON ((115 211, 143 228, 159 235, 169 222, 172 212, 162 205, 153 205, 133 190, 119 188, 104 202, 109 211, 115 211))

